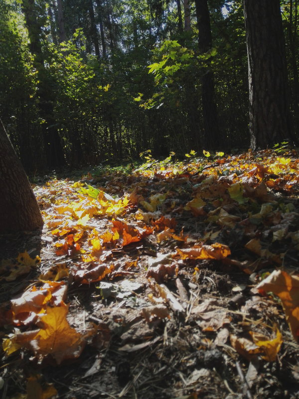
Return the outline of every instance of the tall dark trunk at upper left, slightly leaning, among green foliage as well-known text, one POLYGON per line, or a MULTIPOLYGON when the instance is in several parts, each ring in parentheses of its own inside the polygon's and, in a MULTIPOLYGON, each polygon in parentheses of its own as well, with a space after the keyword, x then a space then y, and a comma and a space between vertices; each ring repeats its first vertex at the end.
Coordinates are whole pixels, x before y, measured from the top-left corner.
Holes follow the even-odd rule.
POLYGON ((52 82, 48 82, 47 71, 44 65, 44 56, 40 42, 41 29, 37 23, 34 0, 22 0, 22 10, 28 29, 29 49, 34 57, 34 67, 38 72, 37 97, 39 99, 40 117, 44 120, 42 128, 47 166, 52 168, 64 164, 63 150, 53 112, 52 101, 54 93, 52 82))

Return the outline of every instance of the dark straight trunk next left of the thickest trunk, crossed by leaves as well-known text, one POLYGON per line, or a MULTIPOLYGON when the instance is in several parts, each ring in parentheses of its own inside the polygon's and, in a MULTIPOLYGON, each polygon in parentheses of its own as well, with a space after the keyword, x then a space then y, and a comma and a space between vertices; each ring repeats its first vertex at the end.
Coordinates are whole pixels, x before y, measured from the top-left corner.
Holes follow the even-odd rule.
MULTIPOLYGON (((198 26, 198 47, 199 52, 203 54, 212 47, 211 23, 207 0, 195 0, 195 8, 198 26)), ((213 72, 210 67, 207 66, 202 69, 201 73, 204 125, 203 146, 209 149, 215 149, 219 141, 219 126, 213 72)))

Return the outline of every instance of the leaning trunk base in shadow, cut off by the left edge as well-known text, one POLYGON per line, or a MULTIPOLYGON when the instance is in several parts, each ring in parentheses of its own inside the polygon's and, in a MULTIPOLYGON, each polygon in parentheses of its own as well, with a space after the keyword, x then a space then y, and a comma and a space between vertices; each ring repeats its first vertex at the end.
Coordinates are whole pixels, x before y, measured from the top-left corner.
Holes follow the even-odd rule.
POLYGON ((38 204, 1 121, 0 154, 0 234, 41 227, 38 204))

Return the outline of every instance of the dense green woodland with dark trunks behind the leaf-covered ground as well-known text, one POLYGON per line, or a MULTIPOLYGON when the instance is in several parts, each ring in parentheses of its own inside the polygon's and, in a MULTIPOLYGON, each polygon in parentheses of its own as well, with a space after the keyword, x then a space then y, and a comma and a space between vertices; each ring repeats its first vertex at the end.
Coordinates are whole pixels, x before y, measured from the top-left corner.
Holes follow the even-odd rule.
MULTIPOLYGON (((245 2, 245 10, 254 3, 245 2)), ((299 128, 299 6, 274 2, 282 29, 273 41, 286 41, 285 108, 263 147, 296 138, 299 128)), ((271 35, 274 15, 262 8, 247 15, 253 25, 270 21, 271 35)), ((0 28, 0 117, 27 171, 148 149, 160 156, 250 146, 241 0, 4 0, 0 28)), ((269 65, 257 66, 259 76, 269 76, 269 65)))

